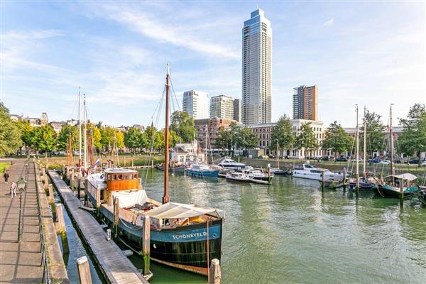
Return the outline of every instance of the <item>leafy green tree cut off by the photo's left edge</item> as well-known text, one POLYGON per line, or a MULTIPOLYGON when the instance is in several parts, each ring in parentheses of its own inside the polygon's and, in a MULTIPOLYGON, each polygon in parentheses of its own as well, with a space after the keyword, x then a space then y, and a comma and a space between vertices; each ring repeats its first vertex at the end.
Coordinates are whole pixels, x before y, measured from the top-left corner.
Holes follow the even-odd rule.
POLYGON ((18 126, 9 116, 9 109, 0 102, 0 156, 14 153, 22 146, 18 126))

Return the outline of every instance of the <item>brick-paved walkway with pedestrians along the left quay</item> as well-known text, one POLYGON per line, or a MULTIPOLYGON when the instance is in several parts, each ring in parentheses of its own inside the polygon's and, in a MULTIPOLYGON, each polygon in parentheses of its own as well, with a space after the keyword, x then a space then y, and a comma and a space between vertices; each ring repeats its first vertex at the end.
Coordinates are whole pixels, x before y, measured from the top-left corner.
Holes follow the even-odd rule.
MULTIPOLYGON (((19 194, 11 198, 12 181, 25 178, 26 159, 13 160, 9 168, 9 183, 1 175, 0 182, 0 283, 40 283, 43 268, 40 266, 40 232, 37 210, 33 161, 28 166, 28 183, 22 194, 22 240, 18 244, 19 194)), ((18 190, 17 190, 18 192, 18 190)))

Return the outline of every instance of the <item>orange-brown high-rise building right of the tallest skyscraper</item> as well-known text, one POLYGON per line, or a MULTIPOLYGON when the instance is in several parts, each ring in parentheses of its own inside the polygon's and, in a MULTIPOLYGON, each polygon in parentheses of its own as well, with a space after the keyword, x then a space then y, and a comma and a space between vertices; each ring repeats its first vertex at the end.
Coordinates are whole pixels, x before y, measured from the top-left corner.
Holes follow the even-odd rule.
POLYGON ((318 120, 317 85, 293 88, 293 119, 318 120))

